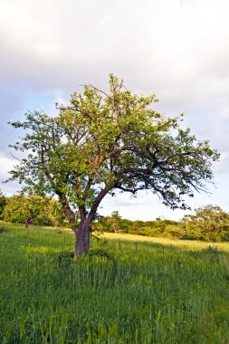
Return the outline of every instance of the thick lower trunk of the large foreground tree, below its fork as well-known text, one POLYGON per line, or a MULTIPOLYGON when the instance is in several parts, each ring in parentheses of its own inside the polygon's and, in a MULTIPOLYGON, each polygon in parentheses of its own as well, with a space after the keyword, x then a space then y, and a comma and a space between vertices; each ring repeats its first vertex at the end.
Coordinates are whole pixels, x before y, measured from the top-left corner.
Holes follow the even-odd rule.
POLYGON ((74 257, 79 258, 82 254, 88 253, 90 249, 91 223, 87 220, 74 230, 75 233, 75 252, 74 257))

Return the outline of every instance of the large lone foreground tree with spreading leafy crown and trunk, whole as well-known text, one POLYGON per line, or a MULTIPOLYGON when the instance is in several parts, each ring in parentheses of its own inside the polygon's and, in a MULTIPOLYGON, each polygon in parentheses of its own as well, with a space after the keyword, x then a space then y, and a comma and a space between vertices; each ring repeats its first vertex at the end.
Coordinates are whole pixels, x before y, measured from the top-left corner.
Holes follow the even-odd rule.
POLYGON ((56 117, 35 111, 11 123, 28 132, 12 146, 27 156, 9 180, 59 196, 76 257, 90 248, 91 223, 106 195, 152 190, 165 205, 185 209, 183 196, 211 182, 219 154, 180 129, 180 118, 152 110, 155 101, 131 94, 110 74, 109 92, 85 85, 56 117))

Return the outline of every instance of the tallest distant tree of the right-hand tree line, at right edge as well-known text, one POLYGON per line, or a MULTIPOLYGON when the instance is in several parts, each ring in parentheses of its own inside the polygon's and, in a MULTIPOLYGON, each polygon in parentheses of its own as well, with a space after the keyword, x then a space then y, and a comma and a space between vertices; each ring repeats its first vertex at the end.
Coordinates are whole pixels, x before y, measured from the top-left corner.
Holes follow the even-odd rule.
POLYGON ((186 215, 181 222, 186 237, 200 240, 229 240, 229 214, 217 205, 204 205, 194 215, 186 215))

